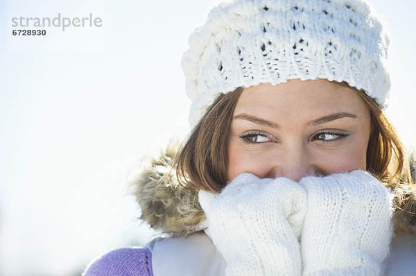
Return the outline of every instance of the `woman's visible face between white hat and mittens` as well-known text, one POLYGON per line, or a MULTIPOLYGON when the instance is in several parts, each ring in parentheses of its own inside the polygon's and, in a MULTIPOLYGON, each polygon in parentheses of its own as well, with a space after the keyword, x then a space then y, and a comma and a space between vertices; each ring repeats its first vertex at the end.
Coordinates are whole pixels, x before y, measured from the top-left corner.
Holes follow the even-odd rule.
POLYGON ((366 169, 370 110, 354 90, 328 80, 288 80, 246 88, 228 144, 228 181, 366 169))

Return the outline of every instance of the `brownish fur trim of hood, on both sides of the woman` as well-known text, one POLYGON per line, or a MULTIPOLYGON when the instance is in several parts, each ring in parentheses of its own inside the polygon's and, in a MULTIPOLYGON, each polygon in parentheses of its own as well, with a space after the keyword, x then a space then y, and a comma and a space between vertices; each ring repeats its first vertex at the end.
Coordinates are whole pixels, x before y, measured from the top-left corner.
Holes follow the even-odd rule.
MULTIPOLYGON (((169 236, 187 236, 202 230, 201 223, 205 220, 198 191, 180 186, 175 178, 171 165, 178 148, 177 144, 168 144, 164 153, 151 159, 150 164, 129 182, 141 207, 140 219, 169 236), (169 173, 167 180, 165 173, 169 173)), ((415 162, 410 168, 414 172, 415 162)), ((389 189, 395 195, 395 232, 415 234, 416 184, 389 189)))

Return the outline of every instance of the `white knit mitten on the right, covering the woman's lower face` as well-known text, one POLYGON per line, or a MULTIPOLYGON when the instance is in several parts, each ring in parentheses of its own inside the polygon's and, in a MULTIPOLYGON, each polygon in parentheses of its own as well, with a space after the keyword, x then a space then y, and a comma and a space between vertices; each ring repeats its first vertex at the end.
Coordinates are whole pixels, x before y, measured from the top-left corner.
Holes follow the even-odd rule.
POLYGON ((306 177, 303 275, 381 275, 392 238, 392 197, 370 173, 306 177))

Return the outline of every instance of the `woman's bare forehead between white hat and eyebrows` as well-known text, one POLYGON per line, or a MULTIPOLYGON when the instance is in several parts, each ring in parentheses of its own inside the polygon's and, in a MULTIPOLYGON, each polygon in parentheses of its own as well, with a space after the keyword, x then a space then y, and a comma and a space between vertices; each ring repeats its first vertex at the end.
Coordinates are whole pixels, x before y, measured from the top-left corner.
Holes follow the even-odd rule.
POLYGON ((328 80, 288 80, 271 85, 261 83, 245 88, 236 104, 234 114, 261 112, 266 117, 297 114, 310 117, 324 112, 367 112, 363 99, 354 89, 328 80))

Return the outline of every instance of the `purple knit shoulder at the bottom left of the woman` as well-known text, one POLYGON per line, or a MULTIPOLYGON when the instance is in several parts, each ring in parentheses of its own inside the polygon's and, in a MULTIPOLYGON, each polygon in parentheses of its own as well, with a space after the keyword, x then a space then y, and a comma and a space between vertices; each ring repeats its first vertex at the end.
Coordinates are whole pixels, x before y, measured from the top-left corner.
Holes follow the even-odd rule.
POLYGON ((87 267, 83 276, 153 276, 148 248, 112 250, 87 267))

